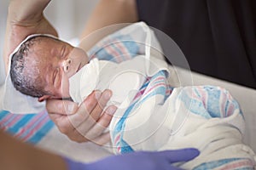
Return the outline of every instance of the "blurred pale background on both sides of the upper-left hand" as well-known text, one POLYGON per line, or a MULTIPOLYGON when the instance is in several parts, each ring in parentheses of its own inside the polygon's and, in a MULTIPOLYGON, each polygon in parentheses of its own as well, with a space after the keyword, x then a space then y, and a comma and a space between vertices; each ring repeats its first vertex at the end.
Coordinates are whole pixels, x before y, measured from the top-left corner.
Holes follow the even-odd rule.
MULTIPOLYGON (((50 23, 55 26, 59 37, 70 40, 79 37, 84 24, 99 0, 52 0, 44 14, 50 23)), ((5 78, 3 68, 3 42, 7 19, 9 0, 0 0, 0 85, 5 78)))

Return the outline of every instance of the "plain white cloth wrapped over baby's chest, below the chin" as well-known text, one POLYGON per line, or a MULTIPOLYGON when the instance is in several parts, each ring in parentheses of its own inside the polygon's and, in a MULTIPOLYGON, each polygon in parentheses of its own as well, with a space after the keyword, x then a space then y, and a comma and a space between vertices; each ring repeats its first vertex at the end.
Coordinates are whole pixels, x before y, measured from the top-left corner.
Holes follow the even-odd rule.
POLYGON ((147 77, 162 70, 167 71, 166 62, 153 56, 148 61, 145 56, 139 55, 119 64, 91 59, 69 79, 69 92, 72 99, 80 104, 93 90, 110 89, 113 96, 108 105, 116 105, 124 111, 147 77))

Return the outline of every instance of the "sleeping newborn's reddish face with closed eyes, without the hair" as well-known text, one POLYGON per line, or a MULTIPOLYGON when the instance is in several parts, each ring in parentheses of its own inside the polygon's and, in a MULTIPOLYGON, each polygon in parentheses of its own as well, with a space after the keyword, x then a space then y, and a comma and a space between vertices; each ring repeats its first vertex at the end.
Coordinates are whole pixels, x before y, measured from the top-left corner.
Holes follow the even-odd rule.
POLYGON ((68 79, 88 63, 83 49, 50 38, 34 44, 29 55, 32 55, 29 64, 33 71, 38 71, 40 79, 47 84, 44 90, 52 94, 43 96, 39 101, 69 98, 68 79))

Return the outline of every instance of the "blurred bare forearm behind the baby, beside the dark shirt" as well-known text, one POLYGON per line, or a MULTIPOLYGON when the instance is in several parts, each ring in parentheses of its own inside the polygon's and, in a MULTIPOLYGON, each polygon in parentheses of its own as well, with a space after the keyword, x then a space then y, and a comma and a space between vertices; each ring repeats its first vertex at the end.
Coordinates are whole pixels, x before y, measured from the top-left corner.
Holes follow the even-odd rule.
POLYGON ((87 51, 102 37, 127 26, 116 24, 132 23, 137 20, 136 0, 101 0, 84 26, 79 46, 87 51), (105 27, 104 31, 99 30, 102 27, 105 27), (94 33, 91 34, 92 32, 94 33))

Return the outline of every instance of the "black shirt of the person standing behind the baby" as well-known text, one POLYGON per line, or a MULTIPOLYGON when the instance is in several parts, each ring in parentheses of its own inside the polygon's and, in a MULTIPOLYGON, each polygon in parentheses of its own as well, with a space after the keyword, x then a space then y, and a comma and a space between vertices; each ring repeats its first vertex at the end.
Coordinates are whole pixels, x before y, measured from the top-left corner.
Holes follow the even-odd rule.
POLYGON ((255 0, 137 0, 137 11, 177 43, 192 71, 256 88, 255 0))

